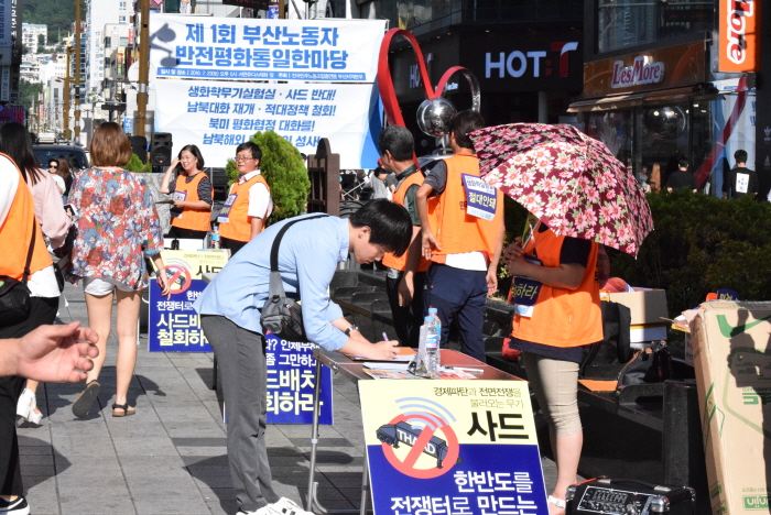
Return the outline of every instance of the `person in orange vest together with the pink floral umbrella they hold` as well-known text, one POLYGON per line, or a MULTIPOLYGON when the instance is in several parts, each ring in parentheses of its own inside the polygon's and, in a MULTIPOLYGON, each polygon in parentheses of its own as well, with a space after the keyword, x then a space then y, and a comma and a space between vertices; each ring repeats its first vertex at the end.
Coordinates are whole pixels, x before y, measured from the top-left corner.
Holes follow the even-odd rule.
POLYGON ((571 125, 514 123, 469 135, 482 179, 531 212, 523 238, 503 253, 515 275, 511 347, 523 351, 549 424, 557 465, 549 513, 562 514, 584 442, 583 348, 602 339, 599 244, 637 255, 653 229, 651 210, 608 147, 571 125))

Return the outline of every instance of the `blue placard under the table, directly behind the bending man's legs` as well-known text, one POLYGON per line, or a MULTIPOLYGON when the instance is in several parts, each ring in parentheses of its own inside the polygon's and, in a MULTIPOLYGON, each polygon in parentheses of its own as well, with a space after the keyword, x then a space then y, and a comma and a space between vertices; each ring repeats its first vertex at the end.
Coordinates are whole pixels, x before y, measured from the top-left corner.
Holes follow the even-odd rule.
MULTIPOLYGON (((312 424, 317 346, 265 336, 268 424, 312 424)), ((322 366, 319 424, 332 425, 332 371, 322 366)))

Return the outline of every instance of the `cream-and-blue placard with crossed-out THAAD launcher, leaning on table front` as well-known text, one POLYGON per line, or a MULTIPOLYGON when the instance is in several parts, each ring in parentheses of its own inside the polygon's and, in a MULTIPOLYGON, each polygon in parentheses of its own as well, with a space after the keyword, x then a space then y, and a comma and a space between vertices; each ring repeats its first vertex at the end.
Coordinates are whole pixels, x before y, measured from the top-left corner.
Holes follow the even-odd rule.
POLYGON ((376 515, 546 515, 524 381, 362 381, 376 515))

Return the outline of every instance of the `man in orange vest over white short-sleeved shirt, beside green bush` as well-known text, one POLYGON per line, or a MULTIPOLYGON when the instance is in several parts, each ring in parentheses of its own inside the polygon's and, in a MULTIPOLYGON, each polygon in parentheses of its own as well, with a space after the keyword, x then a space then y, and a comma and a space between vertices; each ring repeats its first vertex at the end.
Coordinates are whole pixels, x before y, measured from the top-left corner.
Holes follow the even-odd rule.
POLYGON ((251 141, 236 149, 238 180, 217 218, 222 249, 230 249, 231 255, 262 232, 273 212, 270 187, 258 168, 261 158, 262 150, 251 141))

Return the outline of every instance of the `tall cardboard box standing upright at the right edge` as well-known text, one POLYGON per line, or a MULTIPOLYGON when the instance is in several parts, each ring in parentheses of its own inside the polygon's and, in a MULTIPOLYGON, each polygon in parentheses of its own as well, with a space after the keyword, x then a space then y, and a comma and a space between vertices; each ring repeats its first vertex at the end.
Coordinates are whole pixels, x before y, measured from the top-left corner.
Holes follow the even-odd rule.
POLYGON ((687 311, 686 317, 712 513, 769 513, 771 303, 702 306, 704 309, 687 311))

